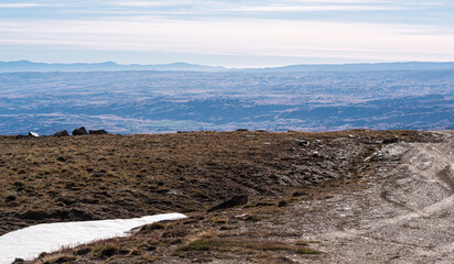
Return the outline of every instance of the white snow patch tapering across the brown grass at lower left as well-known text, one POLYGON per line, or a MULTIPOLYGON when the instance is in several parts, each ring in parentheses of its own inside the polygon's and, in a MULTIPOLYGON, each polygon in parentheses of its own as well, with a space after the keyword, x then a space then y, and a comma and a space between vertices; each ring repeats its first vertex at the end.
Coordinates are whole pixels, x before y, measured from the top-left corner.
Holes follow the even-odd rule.
POLYGON ((42 252, 57 251, 62 246, 126 237, 133 228, 185 217, 175 212, 133 219, 36 224, 0 237, 0 264, 10 264, 15 257, 33 260, 42 252))

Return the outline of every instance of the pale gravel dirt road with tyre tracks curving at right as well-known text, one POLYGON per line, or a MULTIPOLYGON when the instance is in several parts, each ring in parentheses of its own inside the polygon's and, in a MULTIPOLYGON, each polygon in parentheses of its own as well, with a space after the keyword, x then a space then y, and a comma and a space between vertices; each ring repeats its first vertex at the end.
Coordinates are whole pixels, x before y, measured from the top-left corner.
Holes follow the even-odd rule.
POLYGON ((325 252, 303 263, 454 263, 454 133, 444 143, 391 144, 368 188, 295 205, 305 239, 325 252))

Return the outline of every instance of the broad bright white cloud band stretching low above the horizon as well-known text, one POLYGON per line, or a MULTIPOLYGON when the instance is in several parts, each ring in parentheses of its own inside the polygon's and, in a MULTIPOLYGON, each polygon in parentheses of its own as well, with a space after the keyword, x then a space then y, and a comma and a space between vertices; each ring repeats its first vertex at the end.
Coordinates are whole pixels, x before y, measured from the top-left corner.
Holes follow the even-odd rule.
POLYGON ((57 45, 87 51, 454 61, 454 33, 429 34, 430 29, 304 21, 182 22, 155 16, 100 21, 0 21, 0 43, 57 45))

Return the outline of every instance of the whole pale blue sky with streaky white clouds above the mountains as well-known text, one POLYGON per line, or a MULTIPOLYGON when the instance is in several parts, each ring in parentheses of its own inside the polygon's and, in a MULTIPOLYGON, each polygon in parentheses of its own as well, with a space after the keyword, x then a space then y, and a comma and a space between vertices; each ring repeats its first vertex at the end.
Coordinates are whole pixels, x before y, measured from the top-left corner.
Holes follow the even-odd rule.
POLYGON ((454 62, 453 0, 0 1, 0 61, 454 62))

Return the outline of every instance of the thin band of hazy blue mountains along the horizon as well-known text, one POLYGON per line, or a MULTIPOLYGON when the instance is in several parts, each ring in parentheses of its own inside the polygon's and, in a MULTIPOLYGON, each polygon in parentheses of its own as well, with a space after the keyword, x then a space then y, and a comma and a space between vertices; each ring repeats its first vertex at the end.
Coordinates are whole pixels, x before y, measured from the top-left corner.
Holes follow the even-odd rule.
POLYGON ((377 64, 320 64, 290 65, 266 68, 225 68, 188 63, 122 65, 107 63, 46 64, 29 61, 0 62, 0 73, 23 72, 117 72, 117 70, 183 70, 183 72, 248 72, 248 73, 283 73, 283 72, 358 72, 358 70, 413 70, 413 69, 454 69, 454 63, 377 63, 377 64))

